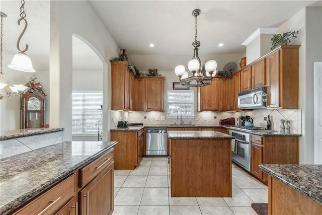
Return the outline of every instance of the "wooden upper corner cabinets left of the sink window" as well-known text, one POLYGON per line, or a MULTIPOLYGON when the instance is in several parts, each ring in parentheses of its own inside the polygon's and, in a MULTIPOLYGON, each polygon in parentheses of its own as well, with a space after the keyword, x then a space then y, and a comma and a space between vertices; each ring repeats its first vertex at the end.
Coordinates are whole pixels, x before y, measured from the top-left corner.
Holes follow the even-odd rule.
POLYGON ((165 77, 135 78, 125 61, 111 63, 111 110, 163 111, 165 77))

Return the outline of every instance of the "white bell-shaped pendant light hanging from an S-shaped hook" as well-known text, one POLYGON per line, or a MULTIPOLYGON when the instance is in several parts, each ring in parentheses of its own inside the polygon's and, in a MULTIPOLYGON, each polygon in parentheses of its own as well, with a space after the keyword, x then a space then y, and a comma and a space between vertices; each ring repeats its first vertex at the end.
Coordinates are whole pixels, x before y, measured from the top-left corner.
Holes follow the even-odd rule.
POLYGON ((25 21, 25 28, 21 32, 21 34, 18 38, 18 41, 17 41, 17 48, 20 52, 15 54, 14 58, 11 61, 11 64, 9 64, 8 66, 12 69, 16 69, 19 71, 26 71, 27 73, 34 73, 35 69, 32 66, 31 59, 25 53, 28 50, 28 45, 26 44, 26 48, 24 50, 21 50, 19 47, 20 40, 21 40, 22 36, 24 35, 24 33, 27 29, 27 26, 28 26, 27 20, 25 19, 26 14, 25 14, 24 5, 25 5, 25 1, 22 0, 21 7, 20 7, 20 17, 21 18, 18 20, 18 25, 20 25, 20 22, 23 20, 23 21, 25 21))

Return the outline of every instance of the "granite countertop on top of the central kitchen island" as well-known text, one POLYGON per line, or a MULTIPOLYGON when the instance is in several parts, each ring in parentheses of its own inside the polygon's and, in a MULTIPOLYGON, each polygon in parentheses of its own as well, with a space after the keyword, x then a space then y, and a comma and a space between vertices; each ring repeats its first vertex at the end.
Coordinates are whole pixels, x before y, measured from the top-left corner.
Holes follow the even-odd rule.
POLYGON ((233 136, 213 130, 168 131, 169 139, 234 139, 233 136))

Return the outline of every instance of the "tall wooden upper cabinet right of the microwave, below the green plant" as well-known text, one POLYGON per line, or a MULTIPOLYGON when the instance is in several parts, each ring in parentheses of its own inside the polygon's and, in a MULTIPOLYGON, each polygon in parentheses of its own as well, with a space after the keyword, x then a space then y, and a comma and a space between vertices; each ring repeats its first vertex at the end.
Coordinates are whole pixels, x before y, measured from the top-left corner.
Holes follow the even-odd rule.
POLYGON ((299 108, 299 47, 281 45, 265 57, 267 108, 299 108))

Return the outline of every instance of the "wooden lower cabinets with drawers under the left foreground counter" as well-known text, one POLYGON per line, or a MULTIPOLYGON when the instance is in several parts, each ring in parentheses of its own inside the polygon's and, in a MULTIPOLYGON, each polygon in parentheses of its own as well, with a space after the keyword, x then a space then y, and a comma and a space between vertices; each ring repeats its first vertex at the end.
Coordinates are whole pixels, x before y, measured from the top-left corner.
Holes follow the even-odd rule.
POLYGON ((112 214, 113 152, 111 149, 95 161, 76 170, 12 214, 112 214))

